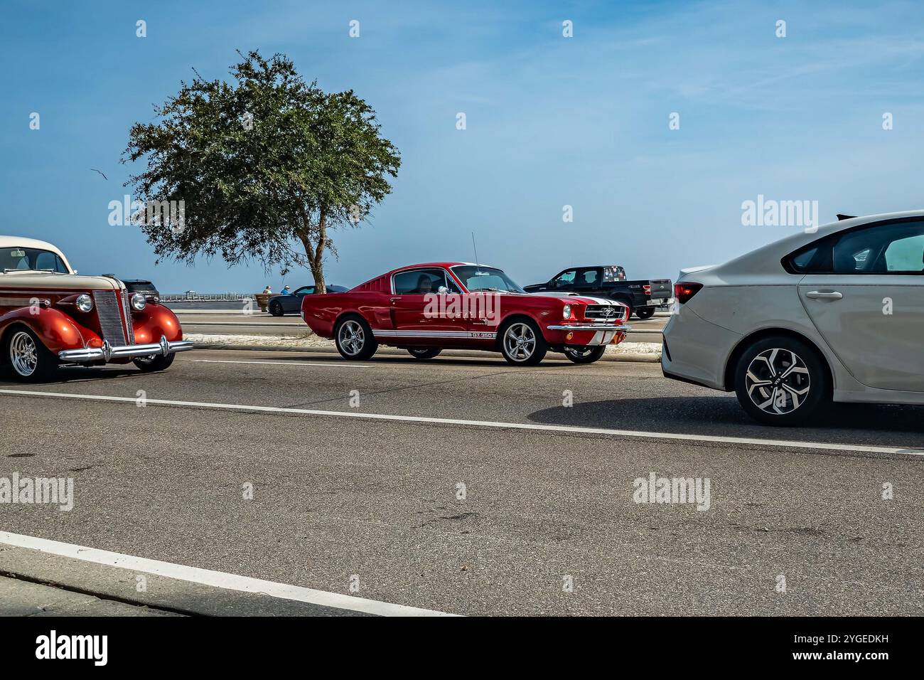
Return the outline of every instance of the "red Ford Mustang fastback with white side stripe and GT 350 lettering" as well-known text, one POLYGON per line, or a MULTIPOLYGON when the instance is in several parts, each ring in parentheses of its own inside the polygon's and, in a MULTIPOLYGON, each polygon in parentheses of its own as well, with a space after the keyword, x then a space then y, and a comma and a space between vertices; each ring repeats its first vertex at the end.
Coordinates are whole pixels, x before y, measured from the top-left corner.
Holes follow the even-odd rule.
POLYGON ((626 337, 627 312, 612 300, 529 294, 500 269, 464 262, 404 266, 301 303, 305 323, 346 359, 369 359, 384 344, 419 359, 444 349, 501 352, 516 365, 539 364, 549 350, 595 362, 626 337))

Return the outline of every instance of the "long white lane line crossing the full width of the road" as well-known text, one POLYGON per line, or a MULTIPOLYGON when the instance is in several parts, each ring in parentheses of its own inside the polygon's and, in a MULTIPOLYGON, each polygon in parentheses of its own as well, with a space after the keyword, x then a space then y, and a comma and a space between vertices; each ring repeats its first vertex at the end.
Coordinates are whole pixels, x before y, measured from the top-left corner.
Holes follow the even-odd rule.
MULTIPOLYGON (((70 394, 67 392, 39 392, 29 389, 0 389, 0 394, 17 394, 27 397, 56 397, 59 399, 83 399, 91 402, 131 402, 135 397, 108 397, 98 394, 70 394)), ((365 418, 368 420, 392 420, 404 423, 435 423, 440 425, 463 425, 472 427, 494 427, 499 429, 521 429, 541 432, 567 432, 587 435, 609 435, 614 437, 638 437, 641 439, 672 439, 681 441, 704 441, 717 444, 753 444, 786 449, 814 449, 823 451, 845 451, 849 453, 892 453, 909 456, 924 456, 924 449, 908 449, 894 446, 867 446, 864 444, 833 444, 818 441, 789 441, 785 439, 752 439, 748 437, 714 437, 691 435, 678 432, 646 432, 606 427, 573 427, 567 425, 537 425, 534 423, 504 423, 493 420, 459 420, 457 418, 432 418, 417 415, 358 414, 347 411, 319 411, 315 409, 287 408, 285 406, 249 406, 237 403, 178 402, 169 399, 147 399, 148 404, 164 406, 190 406, 193 408, 220 409, 223 411, 252 411, 268 414, 322 415, 337 418, 365 418)))

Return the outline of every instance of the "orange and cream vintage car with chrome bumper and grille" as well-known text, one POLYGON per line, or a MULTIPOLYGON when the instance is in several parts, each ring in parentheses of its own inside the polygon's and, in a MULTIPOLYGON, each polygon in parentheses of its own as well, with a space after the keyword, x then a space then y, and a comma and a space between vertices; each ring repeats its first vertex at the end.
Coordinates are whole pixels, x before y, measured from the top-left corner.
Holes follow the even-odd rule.
POLYGON ((171 365, 192 349, 169 309, 114 277, 78 276, 51 243, 0 236, 0 364, 13 377, 54 377, 61 365, 171 365))

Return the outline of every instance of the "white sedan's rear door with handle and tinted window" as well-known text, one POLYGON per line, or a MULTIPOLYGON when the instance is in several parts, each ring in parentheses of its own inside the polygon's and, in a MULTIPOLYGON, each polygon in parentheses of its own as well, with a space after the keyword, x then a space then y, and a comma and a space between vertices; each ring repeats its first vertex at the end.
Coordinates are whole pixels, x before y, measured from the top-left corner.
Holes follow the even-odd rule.
POLYGON ((924 391, 924 222, 841 232, 799 257, 799 298, 847 370, 870 388, 924 391))

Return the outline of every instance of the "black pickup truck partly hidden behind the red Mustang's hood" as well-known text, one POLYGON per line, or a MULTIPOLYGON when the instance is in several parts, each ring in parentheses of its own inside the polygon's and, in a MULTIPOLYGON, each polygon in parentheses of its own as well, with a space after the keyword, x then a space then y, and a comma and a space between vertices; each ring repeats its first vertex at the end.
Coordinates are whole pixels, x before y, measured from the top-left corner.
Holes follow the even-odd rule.
POLYGON ((527 292, 592 295, 615 300, 629 306, 640 319, 654 315, 654 310, 674 296, 670 278, 627 281, 626 270, 618 265, 573 266, 559 272, 546 283, 524 287, 527 292))

